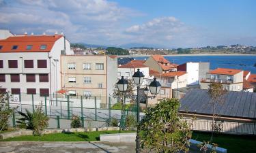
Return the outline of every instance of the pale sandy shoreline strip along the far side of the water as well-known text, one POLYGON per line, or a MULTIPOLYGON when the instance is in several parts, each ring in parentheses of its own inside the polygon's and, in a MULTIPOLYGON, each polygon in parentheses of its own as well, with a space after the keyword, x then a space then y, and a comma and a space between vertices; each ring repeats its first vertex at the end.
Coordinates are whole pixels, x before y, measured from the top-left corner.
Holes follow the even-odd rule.
MULTIPOLYGON (((118 57, 143 57, 151 55, 117 55, 118 57)), ((256 56, 256 54, 165 54, 162 56, 256 56)))

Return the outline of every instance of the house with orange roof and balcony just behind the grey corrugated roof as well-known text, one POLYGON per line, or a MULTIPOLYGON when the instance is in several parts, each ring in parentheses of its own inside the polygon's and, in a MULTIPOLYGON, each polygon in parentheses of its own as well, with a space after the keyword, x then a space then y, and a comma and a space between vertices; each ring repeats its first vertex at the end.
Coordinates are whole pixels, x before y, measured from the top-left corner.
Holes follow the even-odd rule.
POLYGON ((243 71, 240 69, 218 68, 206 73, 206 78, 201 80, 201 88, 207 89, 213 82, 223 84, 230 91, 243 90, 243 71))

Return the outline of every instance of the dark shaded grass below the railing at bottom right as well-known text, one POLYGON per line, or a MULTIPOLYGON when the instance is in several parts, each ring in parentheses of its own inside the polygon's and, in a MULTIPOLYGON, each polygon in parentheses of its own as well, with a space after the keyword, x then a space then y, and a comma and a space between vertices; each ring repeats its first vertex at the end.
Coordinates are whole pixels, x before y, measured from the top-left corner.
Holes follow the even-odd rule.
MULTIPOLYGON (((211 133, 193 132, 192 139, 197 141, 210 141, 211 133)), ((226 148, 228 153, 255 153, 256 136, 214 134, 214 143, 226 148)))

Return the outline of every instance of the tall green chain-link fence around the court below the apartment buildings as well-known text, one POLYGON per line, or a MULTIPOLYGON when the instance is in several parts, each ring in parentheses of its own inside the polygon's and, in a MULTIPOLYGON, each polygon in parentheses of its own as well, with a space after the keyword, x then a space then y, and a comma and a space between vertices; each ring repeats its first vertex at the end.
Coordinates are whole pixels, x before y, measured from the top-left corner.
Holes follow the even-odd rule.
MULTIPOLYGON (((38 94, 20 93, 10 95, 8 93, 8 103, 10 107, 17 107, 16 110, 25 112, 34 112, 38 106, 41 106, 44 113, 50 118, 49 128, 70 128, 72 115, 81 117, 84 127, 94 128, 111 126, 111 118, 119 121, 122 127, 125 126, 126 116, 137 116, 137 107, 126 100, 127 105, 122 114, 119 102, 122 99, 117 97, 86 97, 70 95, 49 95, 42 97, 38 94)), ((17 118, 20 118, 18 112, 10 118, 10 125, 15 126, 17 118)))

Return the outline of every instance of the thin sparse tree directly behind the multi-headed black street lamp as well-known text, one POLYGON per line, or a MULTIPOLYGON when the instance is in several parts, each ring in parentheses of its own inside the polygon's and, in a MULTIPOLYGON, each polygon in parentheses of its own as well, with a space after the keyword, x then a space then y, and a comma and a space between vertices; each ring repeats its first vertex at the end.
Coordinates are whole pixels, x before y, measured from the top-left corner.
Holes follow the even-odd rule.
MULTIPOLYGON (((117 88, 117 85, 115 84, 115 89, 114 89, 114 92, 113 92, 113 97, 117 97, 117 98, 120 98, 122 97, 122 99, 119 99, 120 100, 120 104, 122 105, 122 109, 121 109, 121 120, 122 120, 122 117, 124 115, 124 108, 126 107, 126 96, 125 95, 133 95, 134 94, 134 83, 132 82, 132 80, 128 80, 128 86, 127 86, 127 90, 126 92, 121 92, 118 90, 117 88)), ((134 103, 136 99, 134 97, 131 97, 130 98, 130 103, 134 103)), ((120 126, 119 126, 119 133, 121 132, 121 123, 120 123, 120 126)))

